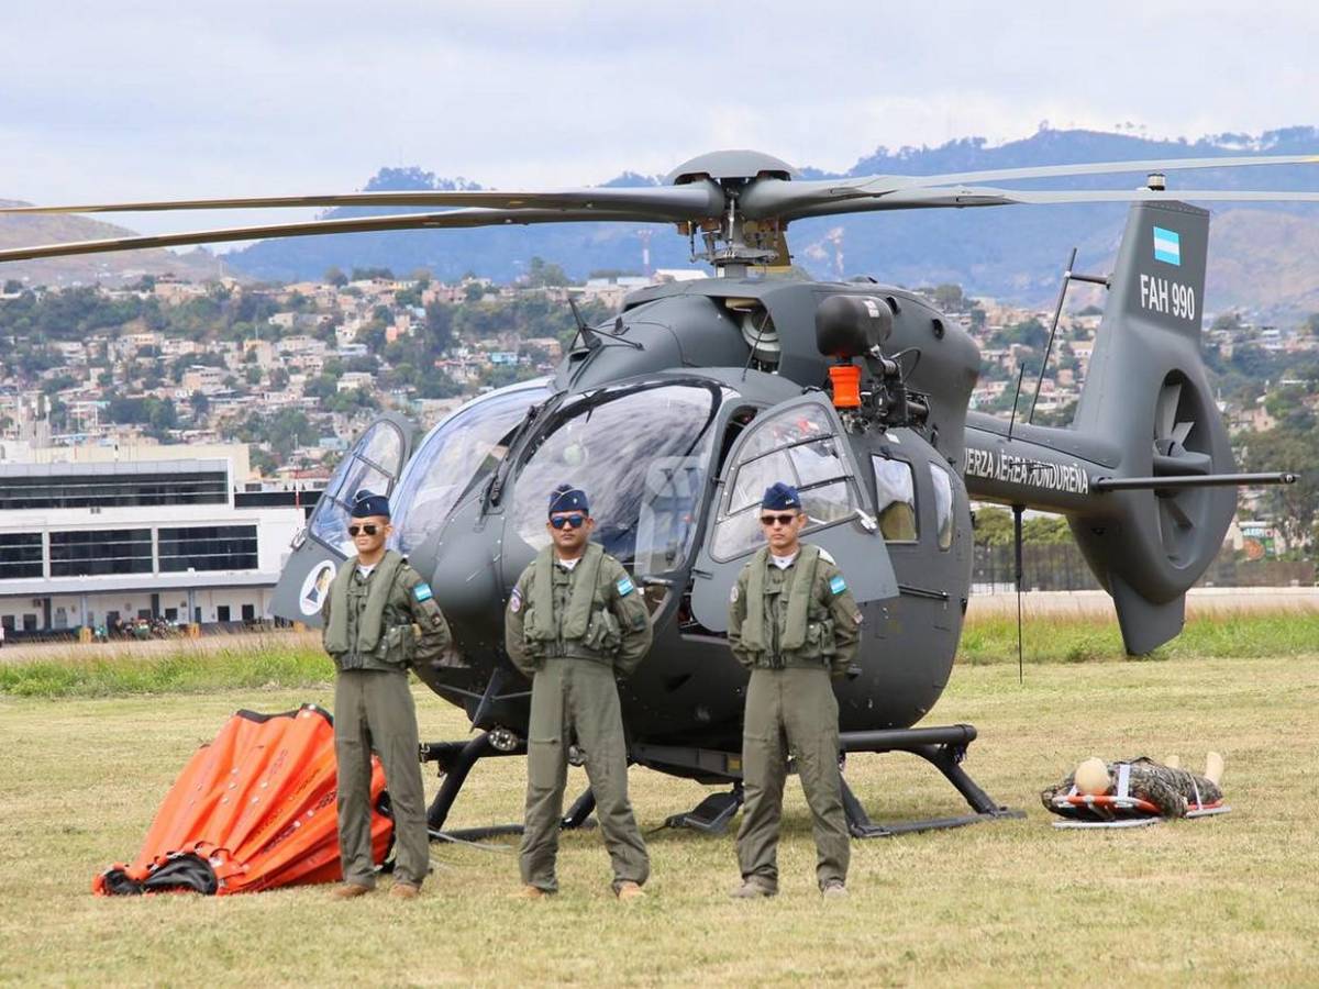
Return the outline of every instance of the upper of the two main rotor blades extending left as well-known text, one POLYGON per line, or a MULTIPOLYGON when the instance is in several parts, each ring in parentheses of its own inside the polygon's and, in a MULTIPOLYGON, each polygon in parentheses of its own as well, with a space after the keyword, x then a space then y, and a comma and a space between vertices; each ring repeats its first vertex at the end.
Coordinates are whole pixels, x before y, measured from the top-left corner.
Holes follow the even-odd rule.
POLYGON ((491 190, 347 193, 342 195, 245 196, 237 199, 162 199, 135 203, 78 206, 7 206, 5 214, 161 212, 166 210, 252 210, 298 206, 468 206, 492 210, 644 210, 653 219, 679 223, 719 216, 723 190, 714 182, 640 189, 566 189, 551 193, 497 193, 491 190))

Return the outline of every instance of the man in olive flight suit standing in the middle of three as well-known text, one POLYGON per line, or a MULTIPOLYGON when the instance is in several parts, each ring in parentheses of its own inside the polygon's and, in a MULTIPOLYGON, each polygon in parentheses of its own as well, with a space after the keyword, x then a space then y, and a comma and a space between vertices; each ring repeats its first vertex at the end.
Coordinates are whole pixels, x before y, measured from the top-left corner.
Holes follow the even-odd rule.
POLYGON ((650 614, 623 564, 590 542, 595 521, 583 491, 555 488, 545 527, 550 546, 517 579, 504 616, 508 655, 532 679, 518 895, 558 891, 554 858, 575 742, 613 864, 613 891, 619 899, 644 897, 650 860, 628 802, 616 678, 630 675, 650 649, 650 614))

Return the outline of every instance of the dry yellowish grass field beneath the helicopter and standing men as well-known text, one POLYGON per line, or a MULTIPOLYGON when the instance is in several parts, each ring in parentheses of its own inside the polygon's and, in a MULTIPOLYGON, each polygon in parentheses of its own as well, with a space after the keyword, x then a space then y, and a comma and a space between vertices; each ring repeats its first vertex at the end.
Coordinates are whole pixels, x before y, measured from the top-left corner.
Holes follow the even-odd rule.
MULTIPOLYGON (((967 766, 1025 820, 853 843, 845 903, 823 905, 790 783, 774 901, 732 902, 731 835, 649 837, 650 898, 620 905, 594 832, 563 839, 562 894, 508 899, 512 845, 434 847, 421 901, 324 887, 237 898, 90 895, 131 858, 174 775, 239 707, 328 704, 327 684, 137 696, 0 694, 0 980, 158 984, 1010 985, 1319 982, 1319 655, 1191 655, 959 667, 931 723, 980 728, 967 766), (1233 812, 1129 832, 1057 832, 1037 791, 1088 754, 1227 758, 1233 812)), ((1208 650, 1213 653, 1213 650, 1208 650)), ((1014 658, 1014 650, 1013 650, 1014 658)), ((1059 657, 1055 657, 1059 658, 1059 657)), ((195 686, 195 684, 193 684, 195 686)), ((212 684, 214 686, 214 684, 212 684)), ((466 721, 418 688, 422 734, 466 721)), ((911 757, 847 775, 873 818, 960 811, 911 757)), ((520 760, 471 777, 451 823, 513 820, 520 760)), ((434 793, 435 781, 427 779, 434 793)), ((583 786, 572 770, 570 786, 583 786)), ((704 789, 633 770, 644 828, 704 789)))

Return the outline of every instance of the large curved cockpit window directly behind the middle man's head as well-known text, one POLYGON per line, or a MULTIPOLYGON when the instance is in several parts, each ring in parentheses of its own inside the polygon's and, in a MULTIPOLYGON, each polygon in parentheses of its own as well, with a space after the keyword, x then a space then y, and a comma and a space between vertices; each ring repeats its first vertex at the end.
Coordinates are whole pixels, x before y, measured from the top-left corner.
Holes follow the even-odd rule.
POLYGON ((714 384, 596 392, 559 409, 524 454, 513 492, 517 534, 549 543, 546 505, 570 483, 591 500, 595 539, 637 574, 671 570, 695 535, 710 471, 714 384))

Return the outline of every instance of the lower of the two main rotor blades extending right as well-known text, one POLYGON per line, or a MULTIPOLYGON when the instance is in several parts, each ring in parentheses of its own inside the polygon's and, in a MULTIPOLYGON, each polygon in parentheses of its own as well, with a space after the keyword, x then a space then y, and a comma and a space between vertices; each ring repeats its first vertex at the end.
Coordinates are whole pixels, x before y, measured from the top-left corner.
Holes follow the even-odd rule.
POLYGON ((1224 189, 1179 189, 1175 193, 1153 189, 1095 189, 1076 191, 995 189, 904 189, 884 198, 819 203, 781 214, 783 220, 834 216, 847 212, 885 210, 967 208, 975 206, 1017 206, 1050 203, 1158 203, 1158 202, 1241 202, 1241 203, 1319 203, 1319 193, 1239 191, 1224 189))

